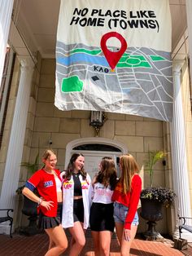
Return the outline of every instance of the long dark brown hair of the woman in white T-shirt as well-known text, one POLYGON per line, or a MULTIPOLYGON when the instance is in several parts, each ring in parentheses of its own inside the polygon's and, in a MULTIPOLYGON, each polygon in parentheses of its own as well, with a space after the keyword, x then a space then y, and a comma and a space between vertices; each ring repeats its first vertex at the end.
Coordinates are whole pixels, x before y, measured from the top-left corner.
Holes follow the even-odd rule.
POLYGON ((94 183, 102 183, 105 187, 111 186, 111 190, 116 187, 116 166, 111 157, 103 157, 101 161, 101 170, 95 178, 94 183))

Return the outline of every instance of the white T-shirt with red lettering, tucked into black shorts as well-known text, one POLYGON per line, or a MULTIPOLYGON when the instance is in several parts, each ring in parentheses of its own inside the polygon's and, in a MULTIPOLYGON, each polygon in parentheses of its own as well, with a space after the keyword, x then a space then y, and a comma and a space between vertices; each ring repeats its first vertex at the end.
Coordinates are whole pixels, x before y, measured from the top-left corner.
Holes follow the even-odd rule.
POLYGON ((111 204, 111 196, 113 194, 113 190, 111 190, 111 186, 105 187, 102 183, 94 183, 93 185, 94 191, 93 193, 93 202, 94 203, 102 203, 102 204, 111 204))

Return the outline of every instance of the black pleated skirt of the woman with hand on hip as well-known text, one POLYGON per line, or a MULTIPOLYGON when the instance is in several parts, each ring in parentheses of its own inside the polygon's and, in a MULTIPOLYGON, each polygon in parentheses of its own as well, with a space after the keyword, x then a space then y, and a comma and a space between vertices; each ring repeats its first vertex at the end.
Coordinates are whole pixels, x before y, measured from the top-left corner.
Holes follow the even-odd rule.
POLYGON ((38 227, 42 230, 42 229, 49 229, 49 228, 59 226, 59 224, 61 223, 61 214, 62 214, 62 202, 58 203, 56 217, 49 217, 40 212, 38 227))

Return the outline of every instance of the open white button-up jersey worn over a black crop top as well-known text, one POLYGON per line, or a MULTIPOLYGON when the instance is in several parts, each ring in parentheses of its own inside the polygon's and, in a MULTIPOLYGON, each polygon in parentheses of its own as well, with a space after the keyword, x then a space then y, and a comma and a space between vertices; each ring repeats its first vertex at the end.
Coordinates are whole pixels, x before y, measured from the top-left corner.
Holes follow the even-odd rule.
MULTIPOLYGON (((62 226, 64 228, 73 227, 73 196, 74 196, 74 182, 73 178, 70 180, 63 179, 63 171, 60 176, 63 181, 63 213, 62 213, 62 226)), ((91 179, 87 174, 86 179, 83 180, 82 176, 79 175, 82 188, 83 205, 84 205, 84 228, 89 226, 89 213, 91 206, 91 179)))

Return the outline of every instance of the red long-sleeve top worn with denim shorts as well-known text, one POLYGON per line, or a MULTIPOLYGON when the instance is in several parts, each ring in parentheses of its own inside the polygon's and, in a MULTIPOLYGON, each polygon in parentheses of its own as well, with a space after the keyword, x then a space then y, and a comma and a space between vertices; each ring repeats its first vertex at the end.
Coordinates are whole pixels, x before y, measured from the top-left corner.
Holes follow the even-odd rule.
POLYGON ((131 223, 133 222, 133 218, 136 214, 137 205, 142 190, 142 179, 138 174, 134 174, 131 181, 131 192, 124 194, 122 190, 122 184, 117 183, 111 200, 129 208, 128 214, 125 218, 124 228, 131 229, 131 223))

